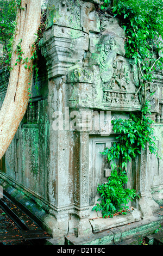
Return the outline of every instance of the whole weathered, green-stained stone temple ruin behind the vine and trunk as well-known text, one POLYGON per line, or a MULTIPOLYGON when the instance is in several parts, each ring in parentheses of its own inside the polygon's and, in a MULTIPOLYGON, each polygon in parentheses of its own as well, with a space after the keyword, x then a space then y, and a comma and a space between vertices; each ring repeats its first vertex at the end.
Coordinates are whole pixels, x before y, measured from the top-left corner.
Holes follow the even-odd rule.
MULTIPOLYGON (((39 89, 34 77, 33 108, 28 106, 0 162, 4 191, 39 221, 55 244, 68 237, 72 244, 96 245, 102 234, 109 244, 113 233, 105 230, 140 220, 152 223, 162 204, 163 162, 146 149, 127 166, 127 186, 141 196, 130 203, 134 210, 106 219, 92 211, 97 186, 111 172, 100 154, 115 141, 110 120, 127 119, 142 107, 141 92, 134 97, 139 70, 133 59, 124 57, 125 33, 116 18, 97 11, 99 2, 48 1, 39 89)), ((0 76, 1 107, 9 74, 1 71, 0 76)), ((161 157, 162 84, 158 71, 147 93, 161 157)))

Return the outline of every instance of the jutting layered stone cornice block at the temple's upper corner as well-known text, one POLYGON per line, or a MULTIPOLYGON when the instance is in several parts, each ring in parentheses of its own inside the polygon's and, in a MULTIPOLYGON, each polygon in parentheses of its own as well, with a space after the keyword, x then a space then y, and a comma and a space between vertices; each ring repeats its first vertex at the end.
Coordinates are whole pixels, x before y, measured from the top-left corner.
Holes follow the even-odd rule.
POLYGON ((49 78, 67 75, 71 67, 82 67, 84 51, 89 47, 88 35, 82 31, 59 26, 53 26, 52 31, 46 31, 40 42, 49 78))

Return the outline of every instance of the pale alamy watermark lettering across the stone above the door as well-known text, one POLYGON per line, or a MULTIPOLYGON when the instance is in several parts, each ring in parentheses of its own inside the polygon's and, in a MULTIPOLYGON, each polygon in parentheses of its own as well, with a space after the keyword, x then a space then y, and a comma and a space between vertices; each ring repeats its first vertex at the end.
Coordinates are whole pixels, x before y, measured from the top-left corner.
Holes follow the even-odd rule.
POLYGON ((101 135, 110 135, 110 111, 70 111, 65 107, 64 112, 54 111, 52 118, 54 131, 93 131, 101 135))

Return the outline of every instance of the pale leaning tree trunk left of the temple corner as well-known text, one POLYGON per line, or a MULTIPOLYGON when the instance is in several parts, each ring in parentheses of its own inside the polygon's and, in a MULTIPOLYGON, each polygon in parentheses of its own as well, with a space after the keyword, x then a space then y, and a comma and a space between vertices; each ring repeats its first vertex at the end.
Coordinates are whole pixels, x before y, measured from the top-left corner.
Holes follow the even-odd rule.
MULTIPOLYGON (((41 17, 41 0, 22 0, 17 14, 17 28, 12 51, 10 79, 7 94, 0 111, 0 159, 8 149, 20 122, 26 113, 29 101, 29 87, 33 71, 25 67, 23 59, 33 56, 33 44, 41 17), (22 59, 15 65, 17 45, 21 45, 22 59), (30 78, 31 73, 31 78, 30 78)), ((32 86, 32 83, 31 83, 32 86)))

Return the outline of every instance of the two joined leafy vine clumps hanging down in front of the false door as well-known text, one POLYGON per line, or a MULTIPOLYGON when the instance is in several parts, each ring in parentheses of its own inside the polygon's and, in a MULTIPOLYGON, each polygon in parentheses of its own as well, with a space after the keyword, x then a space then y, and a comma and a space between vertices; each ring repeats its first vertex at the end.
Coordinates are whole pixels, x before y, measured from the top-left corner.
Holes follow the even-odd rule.
POLYGON ((142 119, 139 113, 130 113, 130 119, 111 121, 113 130, 118 136, 112 146, 105 148, 102 154, 107 156, 109 162, 112 162, 112 169, 117 168, 116 159, 121 160, 122 166, 118 168, 121 170, 119 174, 117 174, 116 168, 112 170, 108 183, 98 184, 97 191, 101 194, 102 203, 96 204, 92 210, 102 210, 103 217, 112 217, 115 212, 126 209, 125 205, 129 200, 136 197, 135 190, 123 187, 123 184, 128 181, 124 170, 127 167, 127 162, 134 159, 137 154, 141 154, 141 148, 144 150, 147 143, 149 151, 157 154, 154 129, 151 127, 153 121, 147 116, 148 114, 151 112, 149 111, 149 102, 146 101, 142 108, 142 119))

